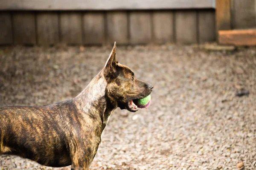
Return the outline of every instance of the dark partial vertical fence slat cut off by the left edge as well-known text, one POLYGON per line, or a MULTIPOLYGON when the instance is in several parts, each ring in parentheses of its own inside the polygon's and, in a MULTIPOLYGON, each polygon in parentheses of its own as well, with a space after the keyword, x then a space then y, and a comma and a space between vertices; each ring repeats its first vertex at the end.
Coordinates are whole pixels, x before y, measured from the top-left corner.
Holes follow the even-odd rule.
POLYGON ((0 44, 12 44, 12 17, 8 12, 0 12, 0 44))

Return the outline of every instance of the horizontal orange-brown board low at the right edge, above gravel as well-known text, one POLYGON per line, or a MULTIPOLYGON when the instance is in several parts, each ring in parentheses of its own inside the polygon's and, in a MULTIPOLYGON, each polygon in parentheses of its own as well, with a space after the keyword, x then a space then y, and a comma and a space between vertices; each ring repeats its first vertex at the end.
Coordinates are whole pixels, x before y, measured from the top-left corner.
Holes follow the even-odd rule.
POLYGON ((236 46, 256 45, 256 29, 218 31, 219 43, 236 46))

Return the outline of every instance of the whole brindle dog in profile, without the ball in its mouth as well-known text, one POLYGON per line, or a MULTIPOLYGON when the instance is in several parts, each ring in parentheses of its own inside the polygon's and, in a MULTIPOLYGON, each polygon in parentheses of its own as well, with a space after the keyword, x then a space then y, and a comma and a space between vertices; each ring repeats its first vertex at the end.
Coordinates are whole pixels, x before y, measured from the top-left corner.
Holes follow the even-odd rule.
POLYGON ((138 111, 134 102, 152 89, 116 61, 115 42, 105 67, 74 99, 43 107, 0 108, 0 154, 88 170, 111 113, 118 107, 138 111))

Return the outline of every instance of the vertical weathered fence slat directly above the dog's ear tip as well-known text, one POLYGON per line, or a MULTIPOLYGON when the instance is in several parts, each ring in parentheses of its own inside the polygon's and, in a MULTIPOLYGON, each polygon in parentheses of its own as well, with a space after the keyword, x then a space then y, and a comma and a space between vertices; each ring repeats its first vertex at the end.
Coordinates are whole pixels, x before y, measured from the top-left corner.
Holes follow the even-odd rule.
POLYGON ((128 17, 127 12, 111 11, 107 13, 108 43, 128 44, 128 17))

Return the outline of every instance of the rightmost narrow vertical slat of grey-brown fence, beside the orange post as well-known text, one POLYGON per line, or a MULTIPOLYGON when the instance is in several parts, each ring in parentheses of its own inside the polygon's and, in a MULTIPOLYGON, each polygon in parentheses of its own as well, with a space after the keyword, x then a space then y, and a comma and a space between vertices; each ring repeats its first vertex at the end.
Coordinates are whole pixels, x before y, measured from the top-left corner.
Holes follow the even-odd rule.
POLYGON ((215 41, 215 11, 202 10, 198 12, 199 42, 215 41))

